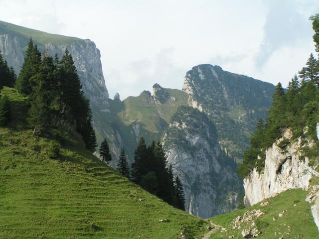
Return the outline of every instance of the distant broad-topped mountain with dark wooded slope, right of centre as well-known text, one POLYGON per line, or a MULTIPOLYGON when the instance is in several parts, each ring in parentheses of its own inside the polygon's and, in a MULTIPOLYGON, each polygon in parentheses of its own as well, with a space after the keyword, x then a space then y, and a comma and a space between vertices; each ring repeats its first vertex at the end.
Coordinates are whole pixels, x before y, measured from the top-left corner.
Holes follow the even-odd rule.
POLYGON ((182 90, 189 95, 189 105, 215 123, 222 147, 241 161, 256 121, 267 117, 275 87, 206 64, 186 73, 182 90))

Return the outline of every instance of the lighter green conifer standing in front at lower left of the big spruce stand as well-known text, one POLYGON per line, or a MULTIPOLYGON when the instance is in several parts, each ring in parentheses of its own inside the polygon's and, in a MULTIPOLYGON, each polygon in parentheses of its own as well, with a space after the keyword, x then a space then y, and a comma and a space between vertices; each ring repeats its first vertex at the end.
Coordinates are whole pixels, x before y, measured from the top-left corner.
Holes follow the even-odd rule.
MULTIPOLYGON (((34 76, 36 77, 36 76, 34 76)), ((27 121, 36 135, 47 132, 49 128, 49 107, 46 104, 46 93, 41 79, 37 79, 33 87, 27 121)))

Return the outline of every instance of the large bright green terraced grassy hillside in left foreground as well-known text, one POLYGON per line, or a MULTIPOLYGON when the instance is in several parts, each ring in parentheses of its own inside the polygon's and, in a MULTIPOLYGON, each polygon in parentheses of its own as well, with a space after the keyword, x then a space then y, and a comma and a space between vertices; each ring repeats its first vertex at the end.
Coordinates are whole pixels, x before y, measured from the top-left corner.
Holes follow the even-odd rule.
MULTIPOLYGON (((85 150, 22 129, 27 98, 4 88, 13 121, 0 128, 0 238, 201 238, 207 223, 142 190, 85 150), (168 222, 159 222, 167 219, 168 222)), ((207 230, 206 230, 207 231, 207 230)))

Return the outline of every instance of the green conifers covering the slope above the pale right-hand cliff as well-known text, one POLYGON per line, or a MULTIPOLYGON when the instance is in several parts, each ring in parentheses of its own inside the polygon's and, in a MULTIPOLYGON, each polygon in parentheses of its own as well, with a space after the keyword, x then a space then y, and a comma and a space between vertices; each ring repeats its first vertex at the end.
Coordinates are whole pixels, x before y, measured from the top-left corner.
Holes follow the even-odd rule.
MULTIPOLYGON (((314 41, 319 52, 319 14, 311 17, 315 30, 314 41)), ((255 134, 251 136, 251 149, 244 153, 243 164, 238 168, 241 177, 257 167, 261 170, 265 165, 265 150, 281 137, 287 128, 293 130, 293 137, 309 136, 316 138, 316 125, 319 121, 319 60, 310 55, 306 66, 289 82, 285 92, 278 83, 273 95, 273 103, 264 123, 258 120, 255 134), (308 128, 305 131, 305 128, 308 128), (258 155, 260 160, 257 159, 258 155)), ((284 141, 280 145, 285 147, 284 141)), ((318 156, 318 155, 317 155, 318 156)))

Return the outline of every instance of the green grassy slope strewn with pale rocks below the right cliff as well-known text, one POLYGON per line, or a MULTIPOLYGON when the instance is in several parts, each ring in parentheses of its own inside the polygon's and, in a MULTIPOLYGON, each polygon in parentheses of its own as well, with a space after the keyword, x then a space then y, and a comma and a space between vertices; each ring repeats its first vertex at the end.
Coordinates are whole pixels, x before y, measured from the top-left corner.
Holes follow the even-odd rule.
POLYGON ((277 197, 262 201, 261 203, 268 202, 266 206, 262 207, 261 203, 258 203, 250 208, 213 217, 211 221, 225 228, 226 231, 222 232, 220 228, 210 238, 239 239, 243 238, 241 233, 244 229, 253 228, 260 232, 258 239, 319 238, 318 229, 311 214, 311 205, 305 201, 306 194, 307 192, 301 189, 288 190, 277 197), (249 215, 255 212, 253 210, 260 210, 264 215, 260 217, 254 215, 251 220, 248 220, 249 215), (245 212, 249 213, 246 214, 248 215, 245 217, 246 220, 242 222, 245 212), (282 217, 279 216, 281 213, 283 213, 282 217), (234 220, 239 216, 241 220, 235 224, 234 220), (255 226, 252 226, 253 223, 255 226))

